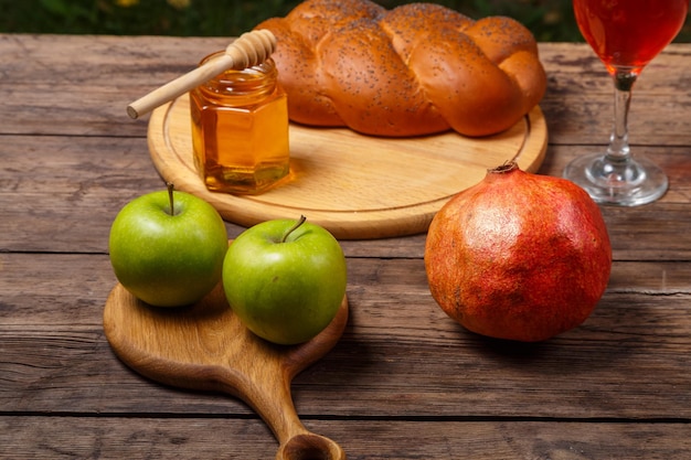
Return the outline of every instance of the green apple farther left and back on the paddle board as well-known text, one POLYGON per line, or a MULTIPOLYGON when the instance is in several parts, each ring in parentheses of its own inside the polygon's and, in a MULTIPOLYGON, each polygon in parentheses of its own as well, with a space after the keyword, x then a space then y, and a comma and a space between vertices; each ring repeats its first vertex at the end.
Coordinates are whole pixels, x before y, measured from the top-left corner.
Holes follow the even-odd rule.
POLYGON ((191 304, 208 295, 221 281, 227 247, 216 210, 170 184, 126 204, 110 227, 115 276, 155 307, 191 304))

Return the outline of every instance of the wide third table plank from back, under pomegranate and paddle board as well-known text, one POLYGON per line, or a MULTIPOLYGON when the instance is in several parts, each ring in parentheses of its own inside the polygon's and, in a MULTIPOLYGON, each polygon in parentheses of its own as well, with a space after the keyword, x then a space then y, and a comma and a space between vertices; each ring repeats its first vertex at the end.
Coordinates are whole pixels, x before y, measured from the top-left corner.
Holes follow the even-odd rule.
MULTIPOLYGON (((233 398, 164 388, 117 361, 102 328, 115 282, 106 256, 0 260, 0 411, 248 414, 233 398)), ((349 325, 296 378, 300 414, 691 417, 691 375, 680 372, 691 350, 688 263, 615 264, 594 314, 533 345, 463 330, 432 299, 419 259, 355 258, 349 269, 349 325)))

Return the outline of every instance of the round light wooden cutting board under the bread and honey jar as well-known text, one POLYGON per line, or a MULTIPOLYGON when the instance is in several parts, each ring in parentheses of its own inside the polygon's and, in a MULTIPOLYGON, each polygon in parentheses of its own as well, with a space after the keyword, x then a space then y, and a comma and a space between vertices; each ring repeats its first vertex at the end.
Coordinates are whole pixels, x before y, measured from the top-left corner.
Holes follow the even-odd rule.
POLYGON ((194 167, 187 95, 153 110, 148 142, 167 181, 206 200, 228 222, 252 226, 304 214, 339 239, 368 239, 426 232, 436 212, 489 168, 514 160, 521 169, 536 171, 548 141, 540 107, 487 138, 446 132, 389 139, 297 125, 289 136, 290 174, 259 195, 205 188, 194 167))

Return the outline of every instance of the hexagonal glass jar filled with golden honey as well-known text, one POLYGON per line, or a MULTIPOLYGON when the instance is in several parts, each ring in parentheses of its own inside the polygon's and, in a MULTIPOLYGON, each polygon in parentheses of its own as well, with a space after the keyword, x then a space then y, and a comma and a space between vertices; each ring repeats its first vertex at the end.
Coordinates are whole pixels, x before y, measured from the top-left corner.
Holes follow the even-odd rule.
POLYGON ((194 163, 209 190, 256 194, 288 174, 288 106, 277 78, 269 57, 190 92, 194 163))

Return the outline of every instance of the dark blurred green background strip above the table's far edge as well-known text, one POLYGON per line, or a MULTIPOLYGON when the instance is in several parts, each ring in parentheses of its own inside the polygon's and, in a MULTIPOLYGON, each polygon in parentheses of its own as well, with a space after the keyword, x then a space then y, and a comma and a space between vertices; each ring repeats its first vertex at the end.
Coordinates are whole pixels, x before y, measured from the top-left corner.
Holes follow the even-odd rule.
MULTIPOLYGON (((663 0, 661 0, 663 1, 663 0)), ((0 0, 0 32, 236 36, 299 0, 0 0)), ((379 0, 393 8, 413 1, 379 0)), ((541 42, 582 41, 571 0, 436 0, 471 18, 509 15, 541 42)), ((691 21, 676 40, 691 42, 691 21)))

